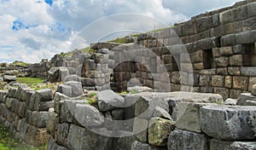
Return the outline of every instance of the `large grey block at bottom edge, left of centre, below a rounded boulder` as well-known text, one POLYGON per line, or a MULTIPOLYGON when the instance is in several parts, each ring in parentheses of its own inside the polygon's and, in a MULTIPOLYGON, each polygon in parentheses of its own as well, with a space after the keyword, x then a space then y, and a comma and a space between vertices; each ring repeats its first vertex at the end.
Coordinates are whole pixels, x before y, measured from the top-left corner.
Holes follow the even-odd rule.
POLYGON ((77 125, 71 124, 67 146, 73 150, 111 150, 112 138, 100 136, 77 125))

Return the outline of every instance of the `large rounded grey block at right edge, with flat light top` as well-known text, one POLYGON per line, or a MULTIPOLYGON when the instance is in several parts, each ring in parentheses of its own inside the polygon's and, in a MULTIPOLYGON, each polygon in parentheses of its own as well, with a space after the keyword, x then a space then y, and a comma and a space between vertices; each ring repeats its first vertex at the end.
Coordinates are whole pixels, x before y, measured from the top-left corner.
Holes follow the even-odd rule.
POLYGON ((201 130, 217 139, 255 138, 256 107, 205 106, 200 110, 201 130))

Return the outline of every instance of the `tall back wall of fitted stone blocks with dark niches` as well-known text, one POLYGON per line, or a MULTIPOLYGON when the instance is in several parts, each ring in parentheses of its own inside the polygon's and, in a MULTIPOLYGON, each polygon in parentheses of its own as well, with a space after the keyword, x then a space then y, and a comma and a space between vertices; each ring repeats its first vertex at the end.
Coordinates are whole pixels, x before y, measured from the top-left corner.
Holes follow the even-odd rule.
POLYGON ((218 93, 224 99, 251 91, 256 84, 255 8, 255 1, 243 1, 110 49, 108 65, 119 64, 113 67, 113 88, 125 90, 131 78, 138 78, 151 88, 160 84, 171 91, 218 93), (130 60, 124 62, 129 52, 130 60), (168 80, 160 76, 159 64, 168 80))

